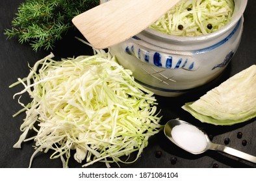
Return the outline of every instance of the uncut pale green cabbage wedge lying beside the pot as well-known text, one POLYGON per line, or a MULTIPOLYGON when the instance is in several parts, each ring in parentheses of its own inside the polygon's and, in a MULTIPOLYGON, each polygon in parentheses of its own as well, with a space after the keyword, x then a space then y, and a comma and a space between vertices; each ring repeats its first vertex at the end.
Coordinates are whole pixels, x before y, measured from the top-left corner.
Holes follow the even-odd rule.
POLYGON ((182 107, 201 122, 233 125, 256 117, 256 65, 182 107))

